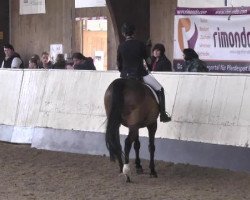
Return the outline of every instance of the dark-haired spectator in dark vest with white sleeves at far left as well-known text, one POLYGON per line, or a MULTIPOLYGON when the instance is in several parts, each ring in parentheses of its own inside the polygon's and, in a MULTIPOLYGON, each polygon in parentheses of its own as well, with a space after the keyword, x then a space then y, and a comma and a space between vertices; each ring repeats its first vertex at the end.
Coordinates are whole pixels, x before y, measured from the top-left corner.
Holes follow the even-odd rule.
POLYGON ((5 44, 3 49, 5 58, 1 65, 2 68, 24 68, 20 55, 15 52, 11 44, 5 44))

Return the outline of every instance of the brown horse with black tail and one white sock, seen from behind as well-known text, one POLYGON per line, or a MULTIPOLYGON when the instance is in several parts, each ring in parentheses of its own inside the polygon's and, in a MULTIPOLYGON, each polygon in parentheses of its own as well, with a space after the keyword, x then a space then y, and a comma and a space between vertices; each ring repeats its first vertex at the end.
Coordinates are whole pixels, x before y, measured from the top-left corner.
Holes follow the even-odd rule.
POLYGON ((139 150, 139 129, 147 127, 149 133, 150 176, 157 177, 154 164, 155 132, 159 105, 151 89, 134 79, 116 79, 106 90, 104 104, 107 115, 106 145, 111 161, 119 162, 120 172, 129 177, 129 153, 134 142, 135 164, 137 173, 142 173, 139 150), (128 127, 129 134, 125 139, 124 153, 120 144, 119 127, 128 127), (124 156, 124 166, 122 157, 124 156))

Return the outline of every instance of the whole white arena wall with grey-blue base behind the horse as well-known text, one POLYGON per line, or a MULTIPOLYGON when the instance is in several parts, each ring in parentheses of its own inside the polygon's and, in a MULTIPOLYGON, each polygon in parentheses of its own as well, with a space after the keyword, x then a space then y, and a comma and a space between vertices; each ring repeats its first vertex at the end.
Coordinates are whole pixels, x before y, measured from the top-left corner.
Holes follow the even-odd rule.
MULTIPOLYGON (((166 91, 156 159, 250 171, 250 76, 154 73, 166 91)), ((116 71, 0 70, 0 140, 107 154, 103 96, 116 71)), ((121 128, 122 135, 127 129, 121 128)), ((147 132, 140 131, 148 145, 147 132)), ((125 136, 122 137, 122 140, 125 136)), ((142 157, 148 158, 143 147, 142 157)))

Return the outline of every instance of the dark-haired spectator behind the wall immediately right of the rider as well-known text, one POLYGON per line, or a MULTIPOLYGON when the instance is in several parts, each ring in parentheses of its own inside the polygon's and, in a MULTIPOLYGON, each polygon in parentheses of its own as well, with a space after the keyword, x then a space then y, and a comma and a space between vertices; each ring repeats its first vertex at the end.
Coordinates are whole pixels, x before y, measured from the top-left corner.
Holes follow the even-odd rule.
POLYGON ((149 65, 150 71, 172 71, 172 64, 165 56, 165 47, 163 44, 156 44, 153 47, 153 55, 149 65))

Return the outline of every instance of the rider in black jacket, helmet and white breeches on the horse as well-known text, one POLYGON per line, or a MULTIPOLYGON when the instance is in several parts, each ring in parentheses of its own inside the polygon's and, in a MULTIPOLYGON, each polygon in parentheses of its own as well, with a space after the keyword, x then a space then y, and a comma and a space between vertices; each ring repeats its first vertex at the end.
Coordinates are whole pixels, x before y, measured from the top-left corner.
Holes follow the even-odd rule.
POLYGON ((134 78, 150 85, 159 98, 160 121, 169 122, 171 117, 165 111, 164 89, 159 82, 148 73, 144 67, 147 59, 146 45, 135 39, 135 27, 131 24, 122 25, 122 34, 125 42, 118 46, 117 65, 122 78, 134 78))

